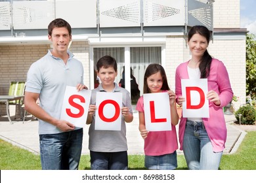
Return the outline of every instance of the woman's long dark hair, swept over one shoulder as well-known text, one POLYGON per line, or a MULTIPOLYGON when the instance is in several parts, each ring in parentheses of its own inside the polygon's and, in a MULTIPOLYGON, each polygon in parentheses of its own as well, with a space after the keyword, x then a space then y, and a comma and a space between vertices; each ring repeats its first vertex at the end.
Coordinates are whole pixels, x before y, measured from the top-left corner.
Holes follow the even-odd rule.
MULTIPOLYGON (((209 44, 209 41, 211 38, 211 31, 209 31, 209 29, 207 29, 207 27, 202 26, 202 25, 193 26, 190 29, 190 31, 188 32, 188 41, 190 41, 192 36, 196 33, 205 37, 205 39, 207 40, 207 43, 209 44)), ((207 78, 209 76, 210 68, 211 68, 211 60, 212 60, 212 57, 210 56, 208 51, 205 50, 202 58, 200 59, 200 65, 199 65, 199 69, 201 72, 201 78, 207 78)))

